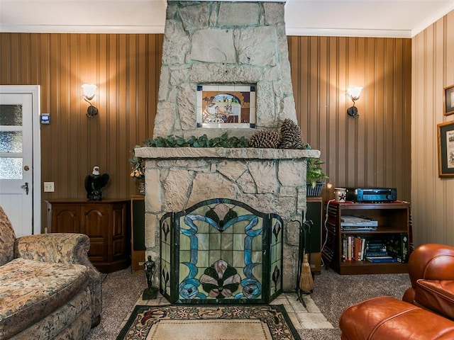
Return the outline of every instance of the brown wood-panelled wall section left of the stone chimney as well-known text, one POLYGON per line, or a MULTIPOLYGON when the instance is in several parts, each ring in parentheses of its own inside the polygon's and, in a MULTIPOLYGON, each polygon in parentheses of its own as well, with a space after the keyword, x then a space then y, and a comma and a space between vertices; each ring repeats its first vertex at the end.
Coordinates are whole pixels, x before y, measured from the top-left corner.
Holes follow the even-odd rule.
MULTIPOLYGON (((153 134, 163 35, 0 34, 0 84, 38 84, 42 181, 50 198, 84 198, 84 178, 99 165, 110 175, 104 198, 135 193, 129 177, 131 149, 153 134), (98 86, 99 109, 87 118, 81 85, 98 86)), ((43 225, 45 225, 43 204, 43 225)))

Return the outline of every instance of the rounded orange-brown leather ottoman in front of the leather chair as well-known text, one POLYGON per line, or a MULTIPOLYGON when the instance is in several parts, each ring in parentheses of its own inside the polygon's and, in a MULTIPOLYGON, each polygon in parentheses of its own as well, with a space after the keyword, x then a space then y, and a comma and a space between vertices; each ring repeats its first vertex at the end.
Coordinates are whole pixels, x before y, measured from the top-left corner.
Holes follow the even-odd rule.
POLYGON ((347 307, 339 320, 343 340, 453 340, 454 322, 393 297, 347 307))

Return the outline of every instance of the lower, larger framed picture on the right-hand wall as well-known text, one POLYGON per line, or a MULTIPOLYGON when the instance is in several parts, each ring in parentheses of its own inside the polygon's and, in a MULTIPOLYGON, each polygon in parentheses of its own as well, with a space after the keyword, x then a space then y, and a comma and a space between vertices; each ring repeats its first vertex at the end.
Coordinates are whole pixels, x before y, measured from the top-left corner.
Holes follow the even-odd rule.
POLYGON ((454 177, 454 121, 440 123, 438 130, 438 177, 454 177))

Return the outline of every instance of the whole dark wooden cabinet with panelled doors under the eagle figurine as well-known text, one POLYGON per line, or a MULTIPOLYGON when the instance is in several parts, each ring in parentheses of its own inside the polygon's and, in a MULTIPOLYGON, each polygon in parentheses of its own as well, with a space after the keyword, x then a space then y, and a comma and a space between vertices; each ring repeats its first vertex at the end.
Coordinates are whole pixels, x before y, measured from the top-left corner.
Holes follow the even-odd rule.
POLYGON ((89 259, 102 273, 130 263, 130 200, 48 200, 48 232, 90 238, 89 259))

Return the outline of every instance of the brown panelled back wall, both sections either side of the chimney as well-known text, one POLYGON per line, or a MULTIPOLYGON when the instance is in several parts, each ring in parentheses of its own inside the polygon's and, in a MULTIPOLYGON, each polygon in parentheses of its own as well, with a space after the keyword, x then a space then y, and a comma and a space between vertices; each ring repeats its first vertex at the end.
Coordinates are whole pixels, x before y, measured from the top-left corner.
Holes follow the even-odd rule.
MULTIPOLYGON (((304 142, 321 150, 334 186, 396 186, 409 200, 411 40, 287 37, 304 142), (348 117, 348 86, 364 86, 348 117)), ((84 177, 111 176, 106 198, 135 193, 128 158, 153 135, 163 35, 0 33, 0 84, 39 84, 42 180, 49 198, 84 198, 84 177), (80 86, 94 83, 96 118, 80 86)), ((331 198, 331 190, 323 196, 331 198)), ((43 208, 44 209, 44 208, 43 208)), ((43 210, 43 224, 45 211, 43 210)))

